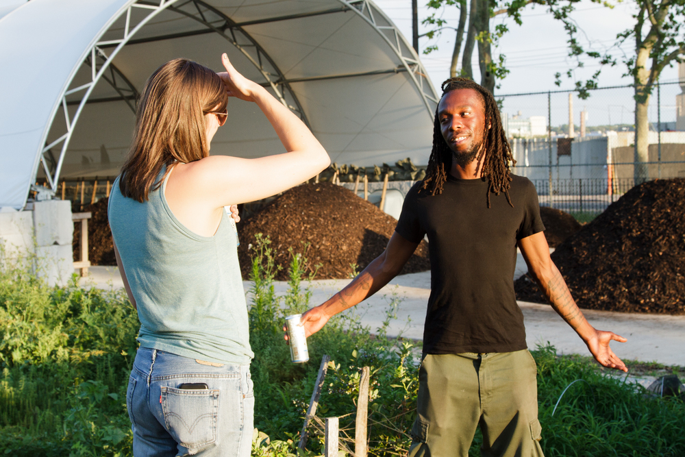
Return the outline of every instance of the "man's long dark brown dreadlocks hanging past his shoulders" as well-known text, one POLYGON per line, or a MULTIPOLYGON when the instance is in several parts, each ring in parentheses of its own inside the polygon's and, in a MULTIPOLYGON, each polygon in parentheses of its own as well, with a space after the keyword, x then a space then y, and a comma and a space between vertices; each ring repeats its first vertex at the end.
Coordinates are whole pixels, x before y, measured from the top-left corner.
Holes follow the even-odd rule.
MULTIPOLYGON (((509 197, 509 183, 512 178, 509 175, 509 162, 516 163, 509 142, 506 138, 504 129, 502 128, 502 121, 499 116, 499 108, 495 97, 489 90, 463 77, 453 77, 443 82, 443 97, 447 92, 458 89, 473 89, 476 90, 483 99, 485 108, 485 125, 483 134, 482 147, 485 151, 483 154, 482 164, 482 180, 488 178, 488 192, 487 201, 488 208, 490 208, 490 193, 499 195, 503 192, 509 204, 513 207, 511 198, 509 197), (488 129, 488 125, 490 128, 488 129)), ((480 156, 479 156, 480 157, 480 156)), ((433 149, 428 159, 428 167, 426 169, 426 176, 423 179, 423 186, 421 190, 427 190, 430 195, 443 193, 443 185, 447 181, 447 173, 452 165, 452 151, 443 138, 443 133, 440 132, 440 119, 438 119, 438 109, 435 112, 435 121, 433 126, 433 149)), ((419 191, 421 191, 419 190, 419 191)))

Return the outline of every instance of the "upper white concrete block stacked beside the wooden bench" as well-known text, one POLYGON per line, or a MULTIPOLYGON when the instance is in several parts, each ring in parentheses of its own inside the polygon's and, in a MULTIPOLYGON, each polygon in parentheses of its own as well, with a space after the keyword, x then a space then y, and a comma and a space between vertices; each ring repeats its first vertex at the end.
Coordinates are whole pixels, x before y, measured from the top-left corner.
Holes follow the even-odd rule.
POLYGON ((74 223, 71 220, 71 202, 68 200, 36 201, 34 203, 36 245, 71 247, 74 223))

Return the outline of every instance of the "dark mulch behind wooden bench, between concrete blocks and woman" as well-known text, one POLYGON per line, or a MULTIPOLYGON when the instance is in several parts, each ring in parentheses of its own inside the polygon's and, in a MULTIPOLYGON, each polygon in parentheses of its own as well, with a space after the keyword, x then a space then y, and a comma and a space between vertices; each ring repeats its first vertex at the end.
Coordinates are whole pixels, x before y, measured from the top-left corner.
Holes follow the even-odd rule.
MULTIPOLYGON (((88 219, 88 260, 91 265, 116 265, 114 258, 114 243, 112 232, 107 221, 107 202, 109 199, 99 199, 97 203, 88 205, 83 212, 90 211, 92 216, 88 219)), ((74 212, 79 212, 74 209, 74 212)), ((81 223, 74 224, 74 261, 81 260, 81 223)))

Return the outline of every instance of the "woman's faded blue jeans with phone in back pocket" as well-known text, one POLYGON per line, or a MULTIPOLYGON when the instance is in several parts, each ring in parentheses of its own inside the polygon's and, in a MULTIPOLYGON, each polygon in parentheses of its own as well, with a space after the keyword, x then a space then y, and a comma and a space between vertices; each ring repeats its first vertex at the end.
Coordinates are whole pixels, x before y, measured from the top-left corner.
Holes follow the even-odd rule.
POLYGON ((210 364, 140 348, 126 406, 135 457, 250 455, 254 392, 249 365, 210 364), (208 388, 179 388, 186 383, 208 388))

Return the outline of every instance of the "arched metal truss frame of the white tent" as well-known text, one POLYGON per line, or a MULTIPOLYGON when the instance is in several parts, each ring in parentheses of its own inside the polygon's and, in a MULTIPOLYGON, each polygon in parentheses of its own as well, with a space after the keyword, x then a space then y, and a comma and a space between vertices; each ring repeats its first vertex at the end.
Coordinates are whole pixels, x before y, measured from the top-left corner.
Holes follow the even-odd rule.
MULTIPOLYGON (((254 21, 236 22, 221 12, 221 10, 215 8, 214 5, 203 0, 124 0, 123 5, 119 8, 119 12, 114 14, 105 27, 100 29, 99 34, 92 39, 91 44, 84 51, 82 58, 74 64, 73 69, 71 69, 71 75, 65 82, 62 92, 58 95, 59 102, 55 104, 55 107, 49 116, 49 122, 43 129, 42 139, 40 140, 40 145, 42 145, 42 147, 37 151, 38 160, 40 161, 40 164, 42 164, 42 171, 47 178, 47 188, 32 185, 32 183, 36 181, 36 175, 38 173, 38 163, 36 163, 34 171, 27 182, 27 195, 29 188, 36 190, 38 193, 36 199, 38 200, 52 198, 57 192, 64 158, 67 151, 69 151, 73 132, 75 131, 75 127, 79 122, 79 118, 86 104, 121 100, 135 112, 135 101, 138 97, 138 90, 134 84, 127 79, 125 72, 121 71, 121 69, 117 68, 112 63, 125 46, 132 44, 183 38, 186 36, 197 36, 201 34, 216 34, 221 36, 238 49, 238 51, 240 51, 259 71, 264 78, 264 82, 261 84, 271 88, 279 101, 281 101, 284 106, 290 108, 292 112, 295 112, 295 114, 297 114, 308 126, 310 126, 310 120, 308 119, 306 110, 300 103, 298 95, 295 90, 292 89, 291 84, 323 81, 327 79, 406 73, 410 77, 415 90, 419 93, 421 101, 425 106, 427 121, 432 123, 432 116, 438 103, 438 96, 427 77, 427 72, 419 61, 418 55, 416 55, 414 49, 410 47, 406 39, 398 31, 397 27, 395 27, 392 21, 390 21, 390 19, 370 0, 335 0, 335 3, 338 3, 339 6, 303 12, 300 14, 286 14, 259 18, 254 21), (150 23, 155 16, 158 16, 158 14, 164 11, 175 12, 180 16, 191 18, 196 23, 203 25, 203 29, 136 38, 136 34, 138 34, 143 27, 150 23), (288 79, 284 72, 279 69, 275 60, 271 58, 271 55, 269 55, 269 53, 260 45, 258 39, 251 36, 251 34, 245 30, 245 27, 250 25, 290 21, 293 19, 327 14, 345 14, 347 12, 353 12, 366 21, 366 23, 383 38, 390 49, 393 50, 396 58, 399 59, 401 64, 399 66, 394 66, 393 68, 378 69, 374 71, 316 75, 312 77, 294 77, 288 79), (140 14, 142 14, 142 18, 140 18, 140 14), (121 23, 122 20, 123 27, 118 31, 114 31, 119 37, 114 39, 111 37, 103 39, 105 34, 111 35, 114 33, 112 32, 113 25, 121 23), (74 82, 77 72, 84 63, 90 66, 90 81, 86 84, 80 84, 79 86, 72 88, 71 85, 74 82), (117 94, 116 97, 90 98, 94 88, 101 79, 104 79, 105 82, 114 89, 117 94), (79 96, 79 100, 74 100, 74 97, 79 96), (70 106, 76 106, 76 110, 72 115, 70 115, 69 112, 70 106), (55 140, 47 143, 49 134, 52 133, 54 135, 52 129, 60 129, 58 125, 53 125, 55 124, 55 118, 60 109, 64 113, 64 128, 60 130, 61 134, 58 134, 58 137, 55 140), (59 147, 60 153, 58 157, 55 158, 53 149, 57 147, 59 147)), ((1 202, 0 206, 2 206, 1 202)))

